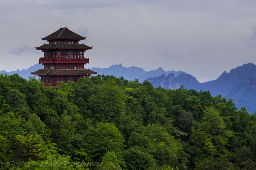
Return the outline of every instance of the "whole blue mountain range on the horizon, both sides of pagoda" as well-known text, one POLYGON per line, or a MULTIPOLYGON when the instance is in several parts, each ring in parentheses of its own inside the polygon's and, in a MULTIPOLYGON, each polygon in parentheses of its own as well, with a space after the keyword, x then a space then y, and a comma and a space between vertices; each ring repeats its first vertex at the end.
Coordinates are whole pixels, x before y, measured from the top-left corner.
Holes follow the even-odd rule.
MULTIPOLYGON (((43 65, 37 63, 27 70, 16 70, 11 72, 0 71, 0 74, 15 74, 28 79, 30 72, 42 69, 43 65)), ((200 83, 196 78, 183 71, 165 71, 161 67, 156 70, 145 71, 139 67, 123 67, 122 64, 112 65, 109 68, 96 68, 90 70, 98 71, 98 74, 114 75, 123 77, 127 80, 138 79, 139 82, 148 80, 154 87, 161 86, 166 89, 177 89, 181 85, 186 89, 195 89, 196 91, 210 91, 212 96, 221 95, 227 99, 234 99, 236 107, 245 106, 249 113, 256 111, 256 65, 247 63, 236 67, 230 72, 224 71, 219 78, 212 81, 200 83), (167 75, 167 76, 165 76, 167 75)))

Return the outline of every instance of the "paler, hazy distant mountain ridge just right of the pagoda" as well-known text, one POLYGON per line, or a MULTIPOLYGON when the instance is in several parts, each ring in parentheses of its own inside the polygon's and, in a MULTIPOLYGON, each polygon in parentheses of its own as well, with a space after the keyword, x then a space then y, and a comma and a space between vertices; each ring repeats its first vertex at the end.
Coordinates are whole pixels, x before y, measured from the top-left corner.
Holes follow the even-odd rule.
POLYGON ((173 73, 174 76, 178 76, 180 73, 187 74, 186 72, 183 71, 164 71, 162 67, 159 67, 157 70, 151 70, 151 71, 145 71, 142 68, 139 67, 123 67, 122 63, 121 64, 116 64, 116 65, 111 65, 109 68, 97 68, 93 67, 90 70, 92 71, 98 71, 98 74, 105 74, 105 75, 114 75, 117 78, 123 77, 124 79, 127 80, 135 80, 138 79, 139 82, 143 82, 147 78, 150 77, 158 77, 162 74, 170 74, 173 73))

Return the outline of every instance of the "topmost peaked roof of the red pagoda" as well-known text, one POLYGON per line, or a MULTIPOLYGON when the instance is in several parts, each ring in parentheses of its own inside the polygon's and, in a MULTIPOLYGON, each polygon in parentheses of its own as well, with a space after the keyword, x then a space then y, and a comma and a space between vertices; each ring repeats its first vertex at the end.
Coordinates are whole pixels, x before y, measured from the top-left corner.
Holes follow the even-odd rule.
POLYGON ((70 31, 67 27, 61 28, 54 33, 42 38, 42 40, 84 40, 86 37, 82 37, 73 31, 70 31))

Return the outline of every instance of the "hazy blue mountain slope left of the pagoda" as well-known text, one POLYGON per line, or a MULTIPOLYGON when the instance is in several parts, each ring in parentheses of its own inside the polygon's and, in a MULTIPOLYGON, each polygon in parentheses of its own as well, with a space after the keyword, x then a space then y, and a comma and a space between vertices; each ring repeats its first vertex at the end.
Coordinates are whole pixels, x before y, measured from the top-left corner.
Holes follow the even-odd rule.
POLYGON ((39 70, 39 69, 43 69, 43 68, 44 68, 44 66, 42 64, 37 63, 37 64, 34 64, 33 66, 29 67, 27 70, 25 70, 25 69, 19 70, 18 69, 16 71, 10 71, 10 72, 2 70, 2 71, 0 71, 0 74, 5 74, 5 73, 7 73, 8 75, 18 74, 20 77, 28 79, 28 77, 36 76, 36 75, 32 75, 31 72, 39 70))

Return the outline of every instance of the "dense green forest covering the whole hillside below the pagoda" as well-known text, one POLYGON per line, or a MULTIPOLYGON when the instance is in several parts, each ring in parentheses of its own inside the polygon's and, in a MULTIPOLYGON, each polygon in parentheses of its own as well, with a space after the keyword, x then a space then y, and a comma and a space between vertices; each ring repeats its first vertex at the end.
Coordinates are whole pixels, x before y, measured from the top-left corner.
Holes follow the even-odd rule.
POLYGON ((209 91, 0 74, 0 169, 256 169, 256 116, 209 91))

